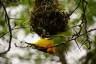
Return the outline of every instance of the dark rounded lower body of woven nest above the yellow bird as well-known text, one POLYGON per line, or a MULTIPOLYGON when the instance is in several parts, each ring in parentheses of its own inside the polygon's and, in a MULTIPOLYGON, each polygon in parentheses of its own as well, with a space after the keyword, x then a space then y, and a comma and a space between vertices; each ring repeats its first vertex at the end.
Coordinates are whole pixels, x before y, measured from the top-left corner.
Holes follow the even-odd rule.
POLYGON ((68 14, 50 7, 46 8, 46 10, 44 10, 44 7, 41 7, 32 12, 30 22, 33 31, 38 35, 55 35, 66 31, 68 14))

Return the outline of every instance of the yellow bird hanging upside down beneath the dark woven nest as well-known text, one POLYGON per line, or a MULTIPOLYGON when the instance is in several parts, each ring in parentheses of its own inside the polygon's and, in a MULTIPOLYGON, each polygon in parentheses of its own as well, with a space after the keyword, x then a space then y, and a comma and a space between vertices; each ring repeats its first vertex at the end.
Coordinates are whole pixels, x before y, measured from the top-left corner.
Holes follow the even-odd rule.
POLYGON ((43 52, 54 54, 56 52, 56 48, 54 48, 54 43, 50 40, 40 38, 37 42, 33 43, 35 47, 43 52))

